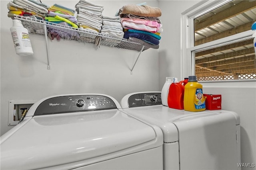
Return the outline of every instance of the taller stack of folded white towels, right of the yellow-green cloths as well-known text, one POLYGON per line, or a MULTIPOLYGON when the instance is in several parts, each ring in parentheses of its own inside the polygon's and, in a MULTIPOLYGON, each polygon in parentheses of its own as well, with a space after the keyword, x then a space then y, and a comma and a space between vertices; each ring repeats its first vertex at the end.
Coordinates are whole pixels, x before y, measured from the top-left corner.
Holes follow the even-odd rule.
POLYGON ((102 11, 104 7, 99 4, 80 0, 75 5, 77 20, 80 28, 100 32, 102 27, 102 11))

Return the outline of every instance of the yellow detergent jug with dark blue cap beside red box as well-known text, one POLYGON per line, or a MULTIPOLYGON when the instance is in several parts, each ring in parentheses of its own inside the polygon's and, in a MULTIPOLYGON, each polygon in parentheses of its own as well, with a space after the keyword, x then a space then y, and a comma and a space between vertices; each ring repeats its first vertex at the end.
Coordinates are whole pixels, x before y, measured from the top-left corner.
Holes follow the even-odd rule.
POLYGON ((196 76, 189 76, 184 90, 184 110, 203 111, 205 108, 203 86, 197 82, 196 76))

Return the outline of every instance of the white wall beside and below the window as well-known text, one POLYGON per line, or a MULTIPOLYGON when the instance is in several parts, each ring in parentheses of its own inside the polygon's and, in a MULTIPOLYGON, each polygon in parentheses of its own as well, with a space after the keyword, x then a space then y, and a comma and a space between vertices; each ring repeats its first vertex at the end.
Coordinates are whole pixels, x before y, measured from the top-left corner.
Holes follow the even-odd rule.
MULTIPOLYGON (((161 21, 164 32, 161 34, 159 49, 159 90, 166 76, 176 76, 180 80, 181 56, 181 13, 196 5, 197 0, 159 1, 162 10, 161 21)), ((184 63, 186 64, 186 63, 184 63)), ((235 111, 240 115, 241 162, 256 163, 256 82, 202 82, 206 94, 222 94, 222 109, 235 111)), ((242 168, 242 170, 254 168, 242 168)))

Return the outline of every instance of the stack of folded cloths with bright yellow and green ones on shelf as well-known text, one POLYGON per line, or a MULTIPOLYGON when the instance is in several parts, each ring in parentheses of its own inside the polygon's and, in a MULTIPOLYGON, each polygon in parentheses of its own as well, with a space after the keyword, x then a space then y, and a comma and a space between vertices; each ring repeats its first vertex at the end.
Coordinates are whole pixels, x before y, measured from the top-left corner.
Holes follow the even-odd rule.
MULTIPOLYGON (((62 6, 60 4, 54 4, 53 6, 48 8, 48 11, 49 13, 45 17, 46 21, 78 28, 78 25, 76 25, 78 21, 74 16, 76 12, 75 10, 62 6)), ((76 31, 68 31, 64 28, 56 29, 51 25, 47 25, 47 31, 51 39, 54 39, 54 37, 56 37, 57 40, 59 40, 60 38, 64 38, 64 39, 76 39, 77 37, 79 38, 79 35, 76 31)))

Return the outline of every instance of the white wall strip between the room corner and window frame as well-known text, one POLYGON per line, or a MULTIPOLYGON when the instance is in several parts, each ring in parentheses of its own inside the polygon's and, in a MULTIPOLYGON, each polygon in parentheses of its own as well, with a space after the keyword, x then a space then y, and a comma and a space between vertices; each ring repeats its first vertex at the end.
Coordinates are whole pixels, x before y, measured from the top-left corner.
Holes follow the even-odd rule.
POLYGON ((159 87, 165 83, 166 77, 183 79, 181 74, 181 13, 192 7, 199 0, 160 0, 161 21, 164 32, 159 48, 159 87))

